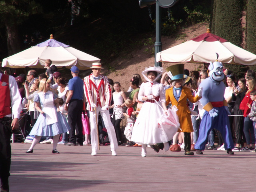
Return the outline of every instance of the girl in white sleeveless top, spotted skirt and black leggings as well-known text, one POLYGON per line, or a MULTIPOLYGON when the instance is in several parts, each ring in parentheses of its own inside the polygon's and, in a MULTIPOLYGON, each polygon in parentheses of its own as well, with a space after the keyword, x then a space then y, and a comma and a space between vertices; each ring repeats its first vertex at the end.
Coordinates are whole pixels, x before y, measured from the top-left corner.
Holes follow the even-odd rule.
POLYGON ((120 129, 120 123, 122 119, 124 118, 124 105, 125 103, 123 101, 126 100, 126 95, 123 91, 120 90, 121 85, 119 82, 114 82, 114 90, 113 93, 113 100, 114 104, 110 106, 109 108, 114 108, 113 116, 112 116, 112 124, 116 131, 116 138, 118 145, 122 145, 122 133, 120 129))

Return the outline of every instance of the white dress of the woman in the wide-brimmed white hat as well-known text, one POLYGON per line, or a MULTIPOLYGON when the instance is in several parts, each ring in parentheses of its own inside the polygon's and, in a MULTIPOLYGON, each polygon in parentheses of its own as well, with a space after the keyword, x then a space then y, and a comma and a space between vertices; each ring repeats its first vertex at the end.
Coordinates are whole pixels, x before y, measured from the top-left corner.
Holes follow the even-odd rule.
POLYGON ((156 96, 158 104, 153 100, 146 100, 142 105, 140 113, 132 130, 132 141, 138 144, 164 143, 172 140, 177 132, 177 127, 160 124, 162 114, 164 114, 161 102, 165 102, 165 91, 162 84, 154 82, 143 83, 140 87, 138 99, 153 94, 156 96), (160 106, 159 106, 160 105, 160 106))

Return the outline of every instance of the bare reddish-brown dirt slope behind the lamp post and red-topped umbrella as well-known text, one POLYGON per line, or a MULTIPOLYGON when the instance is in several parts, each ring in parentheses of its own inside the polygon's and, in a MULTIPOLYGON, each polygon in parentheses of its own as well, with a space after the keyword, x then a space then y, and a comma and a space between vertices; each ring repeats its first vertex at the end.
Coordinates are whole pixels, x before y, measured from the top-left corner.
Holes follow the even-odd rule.
MULTIPOLYGON (((194 26, 182 29, 179 33, 179 37, 170 38, 162 36, 162 50, 166 50, 170 47, 176 46, 190 40, 198 35, 206 33, 208 28, 208 23, 196 24, 194 26)), ((152 41, 155 42, 155 38, 152 38, 152 41)), ((154 46, 151 45, 151 49, 154 46)), ((130 79, 134 73, 141 74, 145 67, 154 66, 154 55, 151 53, 145 52, 144 48, 134 49, 132 52, 127 52, 122 55, 122 57, 113 60, 109 66, 113 66, 113 72, 108 73, 108 70, 102 70, 102 74, 108 73, 108 78, 120 82, 123 91, 127 91, 129 87, 130 79)), ((185 68, 188 70, 198 70, 202 69, 202 64, 189 64, 184 63, 185 68)), ((162 63, 162 67, 165 69, 168 66, 173 65, 170 63, 162 63)), ((142 75, 141 75, 142 77, 142 75)), ((142 80, 144 78, 142 77, 142 80)))

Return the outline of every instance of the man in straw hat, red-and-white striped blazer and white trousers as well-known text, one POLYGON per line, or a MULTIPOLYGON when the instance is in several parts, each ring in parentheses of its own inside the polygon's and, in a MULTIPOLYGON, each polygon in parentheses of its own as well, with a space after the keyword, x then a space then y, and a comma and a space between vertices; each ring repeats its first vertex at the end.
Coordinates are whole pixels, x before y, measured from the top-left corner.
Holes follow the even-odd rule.
POLYGON ((84 78, 84 94, 88 102, 86 109, 90 114, 92 155, 96 155, 98 150, 97 120, 98 112, 100 112, 108 131, 112 155, 116 156, 116 149, 118 148, 116 132, 108 111, 112 98, 110 84, 108 78, 100 74, 101 69, 103 69, 101 63, 93 63, 90 68, 92 74, 84 78))

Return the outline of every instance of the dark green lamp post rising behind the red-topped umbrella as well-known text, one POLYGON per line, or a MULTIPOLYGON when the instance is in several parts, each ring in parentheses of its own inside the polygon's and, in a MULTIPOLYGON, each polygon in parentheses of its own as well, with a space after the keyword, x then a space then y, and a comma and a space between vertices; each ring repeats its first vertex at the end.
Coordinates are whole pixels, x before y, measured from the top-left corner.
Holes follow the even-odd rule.
POLYGON ((140 8, 156 3, 156 42, 155 42, 155 66, 162 67, 162 62, 156 62, 156 54, 162 51, 161 42, 161 7, 170 8, 178 0, 139 0, 140 8))

